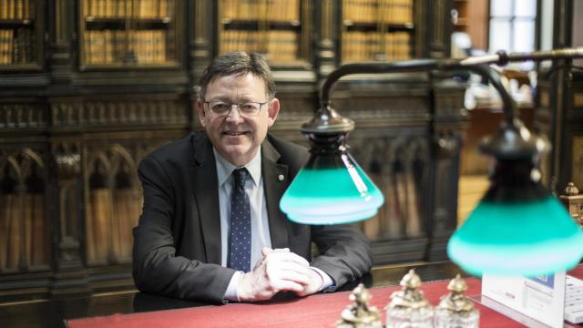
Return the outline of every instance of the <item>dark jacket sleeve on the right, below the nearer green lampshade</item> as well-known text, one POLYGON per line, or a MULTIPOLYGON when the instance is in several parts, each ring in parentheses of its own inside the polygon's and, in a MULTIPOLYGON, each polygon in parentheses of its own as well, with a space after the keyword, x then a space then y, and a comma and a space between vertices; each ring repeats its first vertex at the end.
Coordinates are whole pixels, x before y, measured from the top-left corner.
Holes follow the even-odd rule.
POLYGON ((371 270, 371 243, 354 226, 313 226, 312 241, 318 246, 320 254, 313 258, 311 265, 326 272, 334 280, 336 288, 371 270))

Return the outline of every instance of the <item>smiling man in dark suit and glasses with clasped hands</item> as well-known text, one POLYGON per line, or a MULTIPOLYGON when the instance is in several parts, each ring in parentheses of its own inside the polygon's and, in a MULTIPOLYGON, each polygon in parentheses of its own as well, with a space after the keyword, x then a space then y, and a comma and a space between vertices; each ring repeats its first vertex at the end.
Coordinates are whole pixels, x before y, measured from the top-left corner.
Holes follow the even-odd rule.
POLYGON ((368 272, 370 244, 360 231, 297 224, 279 208, 307 151, 267 133, 280 103, 264 59, 218 56, 200 87, 205 131, 161 147, 138 168, 144 190, 134 228, 138 289, 253 302, 281 291, 333 291, 368 272), (312 241, 319 250, 313 259, 312 241))

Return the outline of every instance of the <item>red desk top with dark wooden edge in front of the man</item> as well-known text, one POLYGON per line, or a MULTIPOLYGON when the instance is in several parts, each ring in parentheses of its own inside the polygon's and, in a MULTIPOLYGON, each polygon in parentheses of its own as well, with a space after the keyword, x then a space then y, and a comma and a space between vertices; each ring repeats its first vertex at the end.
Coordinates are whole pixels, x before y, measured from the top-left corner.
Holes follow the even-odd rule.
MULTIPOLYGON (((389 266, 374 268, 370 274, 364 276, 363 279, 358 282, 363 282, 367 287, 373 288, 371 291, 373 294, 372 305, 376 305, 377 308, 382 313, 384 313, 383 308, 384 305, 389 302, 389 296, 391 292, 399 289, 399 286, 395 285, 400 282, 401 278, 406 272, 409 271, 410 268, 415 268, 415 271, 419 274, 424 282, 432 282, 425 283, 422 286, 422 290, 424 290, 424 292, 427 294, 427 298, 430 302, 432 302, 432 304, 436 304, 438 302, 439 296, 447 292, 445 289, 447 281, 455 277, 455 274, 458 272, 461 272, 455 266, 455 264, 450 262, 431 264, 422 263, 418 265, 401 267, 389 266)), ((583 268, 579 267, 579 269, 581 269, 579 271, 583 273, 583 268)), ((581 276, 583 276, 583 274, 581 274, 581 276)), ((352 291, 358 282, 353 282, 343 286, 342 290, 352 291)), ((471 288, 468 290, 468 295, 473 295, 473 293, 479 294, 480 282, 474 278, 469 278, 467 282, 471 288)), ((0 318, 2 318, 0 322, 2 322, 3 327, 62 327, 64 326, 65 320, 68 321, 71 319, 84 317, 109 316, 107 318, 109 318, 109 320, 113 319, 113 322, 121 320, 121 318, 138 319, 137 321, 134 320, 131 323, 137 327, 145 327, 148 324, 148 320, 152 320, 153 318, 159 317, 160 315, 159 313, 156 315, 150 315, 146 312, 174 310, 171 312, 162 313, 172 313, 172 317, 182 319, 189 318, 189 320, 199 318, 200 320, 204 320, 205 323, 207 323, 206 320, 210 319, 217 321, 217 323, 227 323, 229 317, 225 315, 235 312, 240 313, 238 316, 235 316, 238 319, 240 319, 240 315, 245 315, 245 319, 247 319, 248 323, 249 320, 255 320, 256 322, 252 323, 253 326, 262 326, 262 324, 259 323, 264 323, 264 318, 271 318, 271 320, 278 318, 281 319, 282 314, 287 314, 287 319, 283 322, 280 322, 276 326, 281 326, 281 323, 284 322, 295 322, 295 327, 297 327, 298 324, 301 324, 302 327, 305 328, 309 326, 306 325, 306 323, 312 323, 312 326, 322 326, 318 324, 325 322, 326 324, 323 326, 330 327, 333 326, 335 320, 339 318, 343 308, 350 304, 348 295, 349 292, 334 292, 329 294, 312 295, 303 299, 290 298, 286 297, 286 295, 282 295, 278 302, 266 302, 262 304, 229 304, 225 306, 210 306, 191 309, 192 307, 207 304, 200 302, 188 302, 178 299, 148 295, 142 292, 130 291, 99 294, 88 297, 48 300, 42 302, 0 305, 0 318), (309 311, 314 308, 318 309, 318 311, 309 311), (261 312, 259 311, 260 309, 261 312), (115 313, 139 314, 130 315, 129 317, 122 316, 120 314, 111 316, 115 313), (257 314, 261 314, 263 318, 260 318, 261 316, 257 314), (298 317, 303 318, 307 322, 300 323, 297 321, 290 321, 290 318, 298 317)), ((494 319, 492 323, 500 323, 502 322, 500 318, 506 318, 502 314, 495 313, 494 311, 487 309, 479 304, 478 308, 483 313, 483 315, 494 319), (500 318, 498 318, 498 316, 500 318)), ((231 315, 230 318, 232 319, 233 316, 231 315)), ((509 319, 506 318, 506 325, 504 325, 504 327, 508 327, 508 321, 509 319)), ((87 324, 87 321, 84 323, 87 324)), ((96 322, 93 321, 93 323, 96 322)), ((150 323, 156 324, 152 322, 150 323)), ((107 323, 107 326, 111 326, 111 324, 112 322, 110 321, 107 323)), ((74 324, 71 324, 71 326, 75 327, 74 324)), ((120 326, 127 327, 132 325, 128 325, 128 322, 125 322, 124 325, 120 326)), ((233 322, 230 322, 225 326, 231 327, 233 326, 233 322)), ((484 326, 486 327, 486 325, 484 326)), ((516 323, 515 326, 521 327, 521 325, 518 323, 516 323)))

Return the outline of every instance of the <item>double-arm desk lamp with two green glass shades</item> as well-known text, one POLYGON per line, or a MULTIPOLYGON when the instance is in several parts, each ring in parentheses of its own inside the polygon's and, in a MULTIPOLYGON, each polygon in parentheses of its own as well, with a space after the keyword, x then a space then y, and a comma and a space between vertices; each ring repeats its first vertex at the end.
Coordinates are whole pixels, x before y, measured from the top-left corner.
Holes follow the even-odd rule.
POLYGON ((452 235, 447 247, 450 259, 474 275, 533 276, 574 267, 583 257, 583 231, 539 181, 538 160, 548 142, 524 127, 515 101, 487 65, 580 56, 583 47, 338 67, 322 85, 321 108, 302 125, 312 146, 311 157, 281 198, 281 210, 300 223, 338 224, 367 219, 383 204, 383 195, 347 153, 346 136, 354 128, 353 120, 340 116, 330 104, 332 86, 341 77, 466 69, 486 77, 496 88, 505 119, 480 145, 484 154, 495 159, 495 169, 486 195, 452 235))

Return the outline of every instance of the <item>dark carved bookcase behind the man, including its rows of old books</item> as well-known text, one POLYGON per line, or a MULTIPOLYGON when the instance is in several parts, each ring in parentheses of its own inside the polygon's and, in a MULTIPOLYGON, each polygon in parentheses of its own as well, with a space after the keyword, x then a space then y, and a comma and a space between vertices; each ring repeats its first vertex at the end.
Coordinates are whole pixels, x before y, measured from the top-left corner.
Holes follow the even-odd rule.
MULTIPOLYGON (((405 1, 414 15, 354 19, 343 16, 342 0, 0 0, 0 54, 22 45, 30 56, 0 63, 0 226, 9 227, 0 229, 9 245, 0 247, 0 302, 135 288, 138 163, 201 128, 197 87, 212 57, 265 54, 282 108, 271 133, 305 144, 298 128, 342 61, 448 56, 451 1, 359 4, 405 1), (21 6, 30 15, 3 10, 21 6), (7 42, 4 31, 18 36, 7 42), (343 47, 359 34, 372 38, 374 52, 343 47)), ((438 89, 431 78, 347 79, 334 94, 344 99, 337 109, 358 121, 354 156, 386 191, 386 207, 363 224, 379 264, 444 258, 440 236, 455 222, 455 200, 427 187, 445 180, 440 192, 454 188, 455 159, 428 149, 458 132, 463 89, 438 89), (411 138, 397 140, 398 129, 411 138), (423 185, 406 170, 412 160, 424 163, 423 185)))

